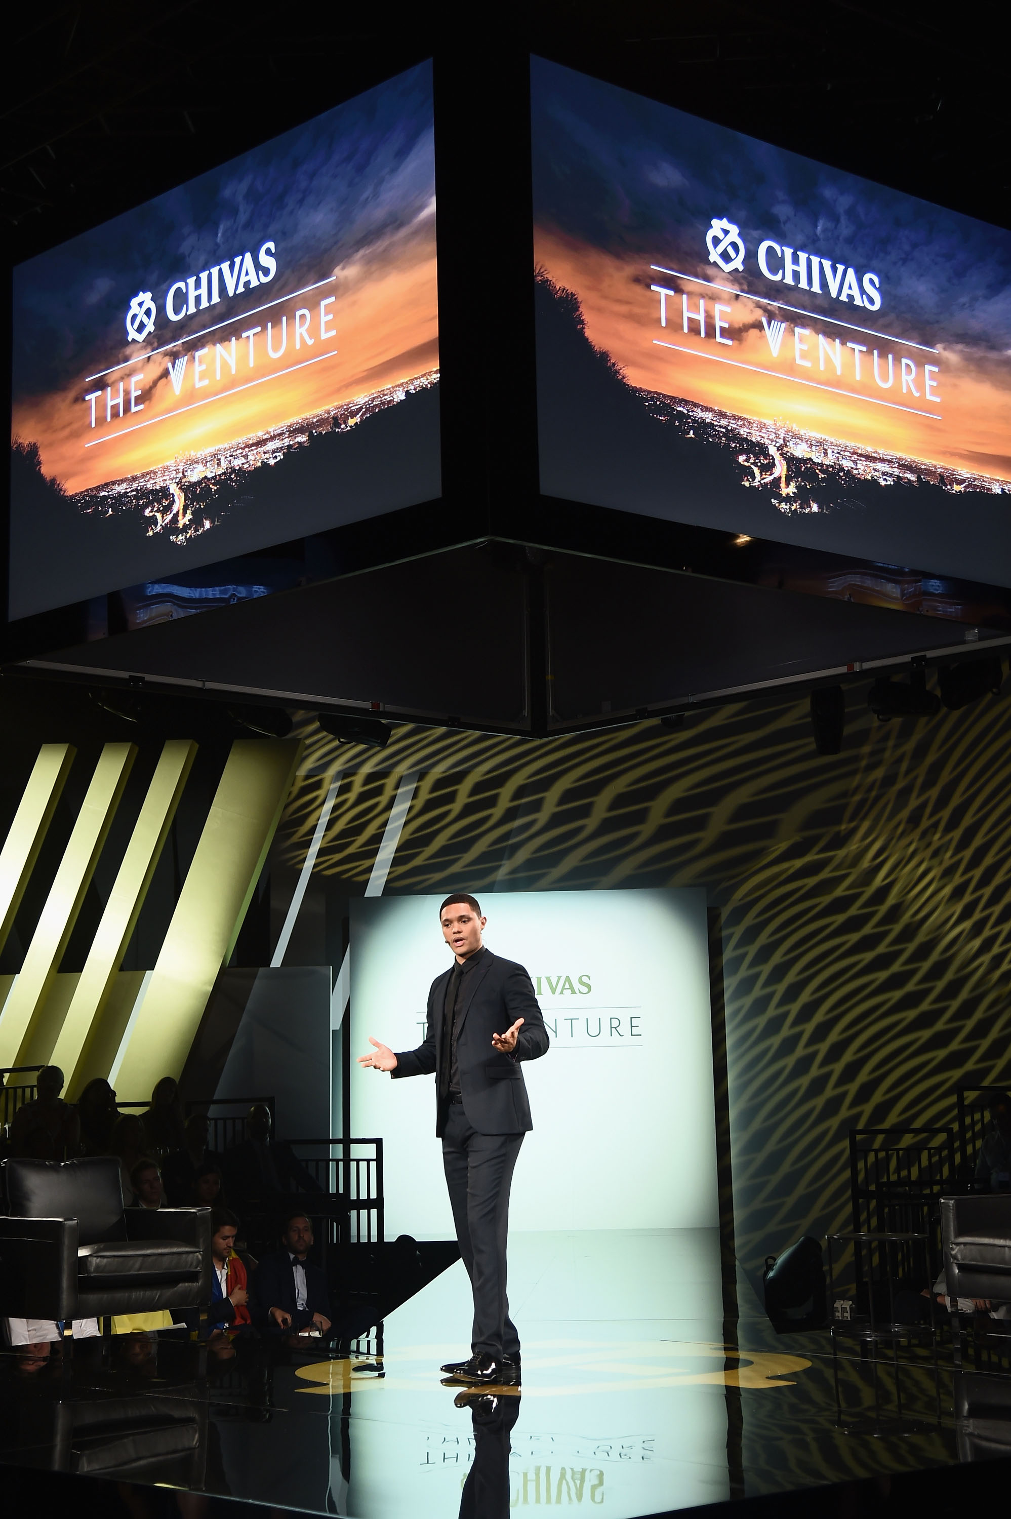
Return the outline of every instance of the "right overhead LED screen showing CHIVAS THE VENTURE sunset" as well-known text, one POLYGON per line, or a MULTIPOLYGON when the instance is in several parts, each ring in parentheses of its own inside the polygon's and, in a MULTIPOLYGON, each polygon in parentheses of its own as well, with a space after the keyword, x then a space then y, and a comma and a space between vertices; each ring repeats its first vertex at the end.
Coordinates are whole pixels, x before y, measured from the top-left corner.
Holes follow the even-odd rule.
POLYGON ((540 486, 1011 585, 1011 234, 533 62, 540 486))

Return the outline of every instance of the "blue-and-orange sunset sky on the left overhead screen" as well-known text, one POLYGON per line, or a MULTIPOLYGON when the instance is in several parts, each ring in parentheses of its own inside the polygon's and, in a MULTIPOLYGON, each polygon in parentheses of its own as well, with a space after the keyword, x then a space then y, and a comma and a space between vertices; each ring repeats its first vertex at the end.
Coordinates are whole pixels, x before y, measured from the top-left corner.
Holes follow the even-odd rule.
POLYGON ((15 272, 12 431, 68 494, 437 365, 430 65, 15 272), (200 272, 250 251, 269 273, 264 243, 273 276, 229 296, 216 275, 202 307, 200 272), (185 307, 191 276, 194 310, 173 322, 168 292, 185 307), (156 313, 140 343, 138 292, 156 313))

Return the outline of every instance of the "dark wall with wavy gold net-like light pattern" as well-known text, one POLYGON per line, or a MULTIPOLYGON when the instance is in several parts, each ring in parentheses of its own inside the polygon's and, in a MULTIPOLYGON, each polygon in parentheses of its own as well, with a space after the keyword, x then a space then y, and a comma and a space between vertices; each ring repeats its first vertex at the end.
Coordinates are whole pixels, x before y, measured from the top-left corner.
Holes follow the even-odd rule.
MULTIPOLYGON (((307 725, 282 828, 364 890, 399 776, 420 772, 387 892, 704 886, 720 910, 736 1249, 754 1268, 849 1220, 847 1130, 952 1123, 1011 1075, 1011 706, 877 723, 849 693, 821 758, 806 700, 533 743, 399 728, 354 758, 307 725)), ((630 954, 635 948, 630 946, 630 954)))

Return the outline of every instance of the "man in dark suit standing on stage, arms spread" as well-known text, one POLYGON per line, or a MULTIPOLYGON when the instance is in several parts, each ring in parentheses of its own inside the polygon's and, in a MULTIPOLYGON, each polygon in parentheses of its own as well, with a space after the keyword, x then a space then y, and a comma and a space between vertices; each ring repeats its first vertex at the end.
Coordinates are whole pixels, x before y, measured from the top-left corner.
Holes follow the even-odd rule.
POLYGON ((474 1290, 471 1358, 442 1370, 466 1384, 516 1382, 519 1337, 506 1297, 509 1189, 533 1129, 519 1062, 546 1053, 548 1031, 525 969, 484 948, 477 901, 466 892, 448 896, 439 921, 454 963, 431 984, 424 1044, 395 1054, 370 1037, 373 1050, 358 1065, 393 1077, 436 1074, 436 1135, 474 1290))

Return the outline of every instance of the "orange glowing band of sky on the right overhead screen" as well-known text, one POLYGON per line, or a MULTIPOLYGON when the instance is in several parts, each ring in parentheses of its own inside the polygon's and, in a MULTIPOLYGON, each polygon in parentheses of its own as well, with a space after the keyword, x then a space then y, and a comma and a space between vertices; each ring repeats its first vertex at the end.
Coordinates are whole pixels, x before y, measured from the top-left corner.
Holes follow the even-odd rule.
POLYGON ((984 358, 982 365, 976 363, 975 355, 961 346, 949 349, 941 343, 938 352, 923 352, 897 340, 873 337, 849 324, 842 328, 818 316, 805 317, 797 311, 761 305, 745 295, 732 296, 698 283, 712 281, 715 275, 726 284, 720 270, 700 270, 698 281, 676 278, 639 258, 574 245, 540 228, 534 238, 534 258, 557 284, 578 293, 587 337, 621 365, 633 386, 698 401, 735 416, 785 419, 823 437, 1011 480, 1011 427, 1003 377, 994 375, 991 362, 984 358), (651 289, 654 284, 676 292, 674 299, 663 302, 666 327, 660 325, 662 307, 651 289), (688 333, 683 298, 689 310, 688 333), (697 319, 700 301, 704 301, 704 337, 697 319), (720 346, 715 339, 717 302, 721 304, 720 346), (785 324, 777 354, 770 348, 762 316, 770 324, 776 319, 785 324), (798 339, 794 328, 800 330, 798 339), (826 339, 821 349, 820 334, 826 339), (867 352, 847 352, 847 340, 859 342, 867 352), (888 387, 874 381, 874 349, 882 378, 887 380, 891 372, 888 387), (888 354, 893 355, 891 371, 888 354), (915 366, 905 393, 903 357, 915 366), (811 371, 803 360, 812 366, 811 371), (937 369, 931 375, 932 390, 940 396, 935 406, 924 396, 924 363, 937 369), (918 396, 912 393, 914 386, 918 396))

